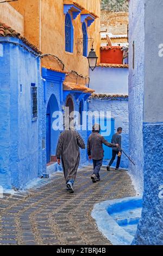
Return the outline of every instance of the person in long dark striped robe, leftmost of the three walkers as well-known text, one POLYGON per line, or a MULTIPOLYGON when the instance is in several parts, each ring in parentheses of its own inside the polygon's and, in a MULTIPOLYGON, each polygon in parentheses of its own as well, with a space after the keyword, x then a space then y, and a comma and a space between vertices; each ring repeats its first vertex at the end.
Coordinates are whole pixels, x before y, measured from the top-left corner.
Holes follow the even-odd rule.
POLYGON ((76 180, 80 162, 79 148, 85 149, 85 143, 75 130, 65 130, 60 134, 56 156, 58 164, 62 162, 67 190, 73 193, 73 184, 76 180))

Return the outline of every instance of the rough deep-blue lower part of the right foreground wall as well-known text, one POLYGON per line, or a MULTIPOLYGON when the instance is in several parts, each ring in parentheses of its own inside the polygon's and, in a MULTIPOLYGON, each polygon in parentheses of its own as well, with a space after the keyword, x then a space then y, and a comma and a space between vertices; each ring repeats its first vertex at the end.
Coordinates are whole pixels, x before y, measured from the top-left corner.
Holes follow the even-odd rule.
POLYGON ((163 197, 159 187, 162 175, 163 124, 143 124, 144 194, 143 209, 133 245, 163 245, 163 197))

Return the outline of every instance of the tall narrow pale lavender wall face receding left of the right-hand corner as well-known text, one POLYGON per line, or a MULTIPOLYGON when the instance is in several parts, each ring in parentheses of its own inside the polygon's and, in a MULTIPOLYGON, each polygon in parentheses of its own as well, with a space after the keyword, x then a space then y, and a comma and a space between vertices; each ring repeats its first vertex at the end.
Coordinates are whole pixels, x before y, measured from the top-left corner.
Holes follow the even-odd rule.
POLYGON ((143 87, 144 87, 144 4, 129 1, 129 152, 135 166, 129 173, 137 191, 143 192, 143 87), (133 42, 134 69, 133 69, 133 42))

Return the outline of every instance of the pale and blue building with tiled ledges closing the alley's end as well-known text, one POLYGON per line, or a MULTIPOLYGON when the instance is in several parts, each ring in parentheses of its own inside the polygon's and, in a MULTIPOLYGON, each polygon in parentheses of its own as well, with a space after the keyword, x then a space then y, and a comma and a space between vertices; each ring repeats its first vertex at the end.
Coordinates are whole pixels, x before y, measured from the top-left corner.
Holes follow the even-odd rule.
MULTIPOLYGON (((128 65, 99 63, 90 73, 90 81, 95 93, 90 96, 89 110, 110 112, 109 118, 103 117, 104 123, 108 121, 110 127, 109 135, 104 137, 111 142, 117 128, 123 127, 122 147, 129 153, 128 65)), ((104 163, 108 164, 112 150, 104 147, 104 151, 104 163)), ((128 168, 128 159, 123 154, 120 167, 128 168)))

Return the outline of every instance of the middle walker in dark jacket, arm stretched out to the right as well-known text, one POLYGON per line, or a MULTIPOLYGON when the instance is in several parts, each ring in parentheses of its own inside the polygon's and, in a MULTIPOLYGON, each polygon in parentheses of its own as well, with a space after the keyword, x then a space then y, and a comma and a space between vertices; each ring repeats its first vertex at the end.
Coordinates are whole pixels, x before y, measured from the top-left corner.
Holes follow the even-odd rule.
POLYGON ((93 174, 91 176, 93 182, 100 181, 99 171, 104 157, 103 144, 110 148, 118 147, 118 144, 107 142, 104 137, 99 134, 100 130, 101 127, 99 124, 93 125, 92 133, 87 141, 87 154, 89 155, 89 160, 93 160, 93 174))

